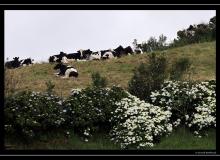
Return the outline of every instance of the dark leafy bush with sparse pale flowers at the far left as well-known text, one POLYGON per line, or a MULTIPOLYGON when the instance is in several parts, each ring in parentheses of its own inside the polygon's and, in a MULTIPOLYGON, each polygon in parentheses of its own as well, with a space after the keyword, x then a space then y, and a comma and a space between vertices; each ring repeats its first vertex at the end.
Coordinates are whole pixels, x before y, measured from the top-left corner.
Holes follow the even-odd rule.
POLYGON ((5 98, 5 130, 25 139, 62 126, 62 99, 48 93, 19 92, 5 98))

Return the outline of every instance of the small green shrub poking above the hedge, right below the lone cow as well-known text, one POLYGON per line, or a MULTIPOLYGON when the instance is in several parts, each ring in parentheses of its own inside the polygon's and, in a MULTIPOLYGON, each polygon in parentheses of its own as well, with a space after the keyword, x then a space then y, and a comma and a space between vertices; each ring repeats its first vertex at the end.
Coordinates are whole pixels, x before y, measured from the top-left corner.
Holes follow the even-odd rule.
POLYGON ((98 72, 93 73, 92 86, 104 88, 107 86, 107 79, 105 77, 101 77, 101 75, 98 72))

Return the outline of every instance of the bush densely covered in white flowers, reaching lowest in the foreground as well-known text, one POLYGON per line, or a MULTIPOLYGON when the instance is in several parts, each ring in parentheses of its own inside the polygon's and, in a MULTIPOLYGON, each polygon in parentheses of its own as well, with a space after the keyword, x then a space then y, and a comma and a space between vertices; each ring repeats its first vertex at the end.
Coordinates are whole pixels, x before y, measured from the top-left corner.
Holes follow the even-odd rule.
POLYGON ((172 124, 169 123, 172 113, 169 110, 132 95, 116 105, 110 119, 115 124, 110 136, 122 149, 152 147, 160 137, 172 132, 172 124))

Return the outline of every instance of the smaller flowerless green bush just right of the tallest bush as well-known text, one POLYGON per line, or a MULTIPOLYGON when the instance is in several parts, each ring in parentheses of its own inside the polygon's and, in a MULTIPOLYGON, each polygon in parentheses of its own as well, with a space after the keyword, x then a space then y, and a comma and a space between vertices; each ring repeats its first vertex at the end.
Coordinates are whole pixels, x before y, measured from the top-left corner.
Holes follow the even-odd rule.
POLYGON ((180 58, 171 67, 170 79, 181 80, 183 75, 189 71, 191 62, 189 58, 180 58))

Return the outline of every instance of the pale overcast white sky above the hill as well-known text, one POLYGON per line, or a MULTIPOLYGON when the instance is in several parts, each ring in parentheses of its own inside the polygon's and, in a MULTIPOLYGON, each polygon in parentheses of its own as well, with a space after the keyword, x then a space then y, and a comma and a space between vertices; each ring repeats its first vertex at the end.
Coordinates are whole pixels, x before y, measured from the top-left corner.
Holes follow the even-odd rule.
POLYGON ((132 46, 160 34, 168 41, 190 24, 208 23, 215 10, 7 10, 5 60, 47 61, 50 55, 132 46))

